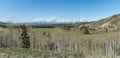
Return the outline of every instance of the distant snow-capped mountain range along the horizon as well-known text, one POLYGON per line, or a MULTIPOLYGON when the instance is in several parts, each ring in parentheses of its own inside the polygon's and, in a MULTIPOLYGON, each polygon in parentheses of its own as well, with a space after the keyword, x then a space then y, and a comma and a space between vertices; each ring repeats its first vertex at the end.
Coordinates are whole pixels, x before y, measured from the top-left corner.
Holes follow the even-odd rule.
POLYGON ((77 22, 85 22, 83 19, 57 19, 54 17, 51 18, 38 18, 34 19, 32 23, 34 24, 61 24, 61 23, 77 23, 77 22))

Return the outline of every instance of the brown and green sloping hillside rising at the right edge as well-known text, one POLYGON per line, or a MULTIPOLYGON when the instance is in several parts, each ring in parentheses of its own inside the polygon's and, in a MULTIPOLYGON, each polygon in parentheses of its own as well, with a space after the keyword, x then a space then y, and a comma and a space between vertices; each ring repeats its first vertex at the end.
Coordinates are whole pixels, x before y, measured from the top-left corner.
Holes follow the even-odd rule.
POLYGON ((90 23, 90 25, 96 28, 98 31, 117 31, 120 28, 120 14, 115 14, 113 16, 101 19, 90 23))

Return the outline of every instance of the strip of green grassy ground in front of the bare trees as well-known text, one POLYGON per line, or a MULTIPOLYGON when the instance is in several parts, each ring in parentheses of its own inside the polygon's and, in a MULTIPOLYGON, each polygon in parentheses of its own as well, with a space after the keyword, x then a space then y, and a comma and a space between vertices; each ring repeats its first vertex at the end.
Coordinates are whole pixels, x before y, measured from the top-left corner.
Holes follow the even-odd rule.
POLYGON ((73 55, 64 55, 50 51, 32 51, 22 48, 0 48, 0 58, 75 58, 73 55))

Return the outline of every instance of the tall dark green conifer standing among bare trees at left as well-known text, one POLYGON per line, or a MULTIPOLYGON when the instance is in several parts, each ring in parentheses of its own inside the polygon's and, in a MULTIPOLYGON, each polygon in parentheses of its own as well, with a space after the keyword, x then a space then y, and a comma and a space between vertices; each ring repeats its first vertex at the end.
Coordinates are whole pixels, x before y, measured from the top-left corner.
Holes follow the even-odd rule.
POLYGON ((30 36, 28 35, 27 27, 25 24, 21 26, 21 47, 22 48, 30 48, 30 36))

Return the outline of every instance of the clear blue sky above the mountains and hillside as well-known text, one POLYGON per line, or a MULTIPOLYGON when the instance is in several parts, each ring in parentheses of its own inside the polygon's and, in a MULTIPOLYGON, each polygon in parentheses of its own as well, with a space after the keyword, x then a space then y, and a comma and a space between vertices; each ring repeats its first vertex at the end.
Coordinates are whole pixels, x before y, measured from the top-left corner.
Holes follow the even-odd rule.
POLYGON ((0 21, 99 20, 120 13, 120 0, 0 0, 0 21), (45 20, 45 19, 44 19, 45 20))

